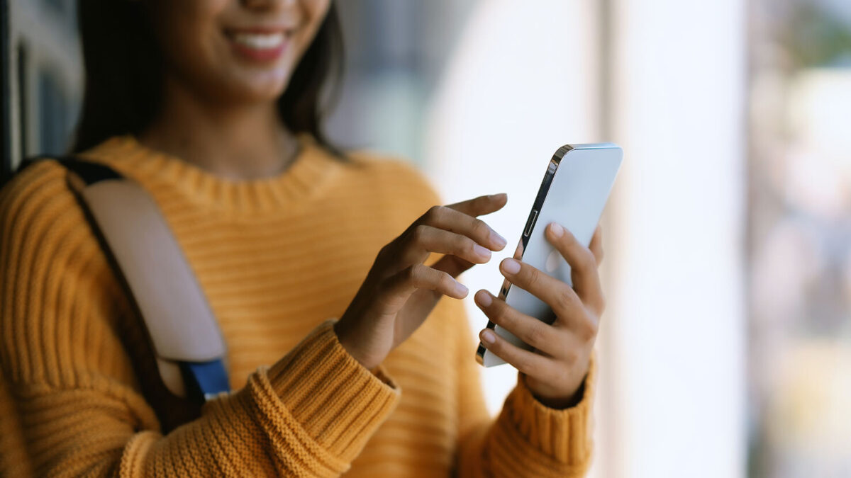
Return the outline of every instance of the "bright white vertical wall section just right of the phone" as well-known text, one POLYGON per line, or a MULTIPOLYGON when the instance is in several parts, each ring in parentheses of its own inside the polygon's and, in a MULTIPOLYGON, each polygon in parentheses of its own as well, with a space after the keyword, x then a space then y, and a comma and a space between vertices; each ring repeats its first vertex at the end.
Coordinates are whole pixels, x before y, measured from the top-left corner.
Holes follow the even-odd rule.
POLYGON ((612 474, 744 475, 745 2, 613 5, 612 474))

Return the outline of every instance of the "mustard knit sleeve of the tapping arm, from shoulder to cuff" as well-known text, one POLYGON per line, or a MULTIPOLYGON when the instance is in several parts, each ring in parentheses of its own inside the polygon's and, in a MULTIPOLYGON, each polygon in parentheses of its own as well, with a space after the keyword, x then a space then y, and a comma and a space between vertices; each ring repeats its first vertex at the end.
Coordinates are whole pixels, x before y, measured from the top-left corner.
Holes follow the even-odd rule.
POLYGON ((120 287, 64 169, 36 164, 0 192, 0 227, 0 418, 21 435, 0 453, 35 475, 337 476, 397 404, 391 379, 346 353, 328 321, 163 434, 120 338, 120 287))

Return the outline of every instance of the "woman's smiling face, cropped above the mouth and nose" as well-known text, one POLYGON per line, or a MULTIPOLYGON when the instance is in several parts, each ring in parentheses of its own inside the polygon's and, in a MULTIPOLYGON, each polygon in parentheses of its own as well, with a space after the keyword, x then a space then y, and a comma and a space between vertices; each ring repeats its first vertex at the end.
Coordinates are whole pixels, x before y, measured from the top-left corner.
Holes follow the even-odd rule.
POLYGON ((147 0, 170 80, 217 103, 283 94, 331 0, 147 0))

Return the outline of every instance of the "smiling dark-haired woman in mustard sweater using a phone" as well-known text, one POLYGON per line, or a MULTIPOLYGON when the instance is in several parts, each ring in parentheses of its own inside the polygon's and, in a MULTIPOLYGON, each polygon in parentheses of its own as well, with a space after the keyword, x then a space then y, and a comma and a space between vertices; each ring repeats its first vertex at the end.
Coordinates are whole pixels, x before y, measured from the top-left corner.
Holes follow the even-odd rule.
POLYGON ((599 234, 585 248, 546 230, 575 290, 500 265, 551 304, 552 325, 477 292, 491 320, 540 350, 479 335, 520 371, 491 420, 455 277, 505 247, 477 216, 506 197, 438 207, 403 162, 328 145, 329 0, 78 11, 87 83, 74 151, 162 209, 226 339, 234 391, 200 410, 163 392, 66 169, 38 162, 0 195, 0 463, 15 475, 585 472, 599 234), (431 253, 443 255, 425 265, 431 253))

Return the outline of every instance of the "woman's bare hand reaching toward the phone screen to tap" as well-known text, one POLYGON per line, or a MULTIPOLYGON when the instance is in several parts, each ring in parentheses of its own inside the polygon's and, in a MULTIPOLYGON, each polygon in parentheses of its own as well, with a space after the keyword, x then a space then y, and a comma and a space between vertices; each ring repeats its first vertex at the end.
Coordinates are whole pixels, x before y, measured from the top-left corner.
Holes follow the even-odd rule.
POLYGON ((426 321, 438 299, 464 299, 467 287, 455 277, 505 248, 505 239, 476 217, 500 210, 506 201, 505 194, 496 194, 435 206, 382 248, 334 325, 351 356, 364 367, 377 367, 426 321), (446 255, 429 267, 423 262, 430 253, 446 255))

